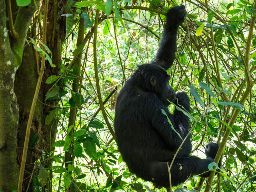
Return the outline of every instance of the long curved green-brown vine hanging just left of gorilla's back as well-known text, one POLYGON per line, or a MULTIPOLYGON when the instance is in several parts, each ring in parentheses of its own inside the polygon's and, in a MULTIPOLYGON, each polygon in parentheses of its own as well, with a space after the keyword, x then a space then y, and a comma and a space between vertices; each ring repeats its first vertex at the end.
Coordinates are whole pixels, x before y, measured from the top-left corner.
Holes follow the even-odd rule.
POLYGON ((110 133, 112 134, 112 136, 114 138, 116 138, 114 130, 112 129, 112 127, 108 121, 108 116, 105 112, 105 108, 104 108, 104 104, 103 104, 101 92, 100 92, 100 83, 99 83, 99 76, 98 76, 98 62, 97 62, 97 33, 98 33, 99 13, 100 13, 100 10, 97 9, 96 16, 95 16, 95 23, 94 23, 94 38, 93 38, 93 58, 94 58, 95 81, 96 81, 97 95, 98 95, 98 100, 100 103, 102 115, 103 115, 104 120, 108 126, 108 129, 110 130, 110 133))

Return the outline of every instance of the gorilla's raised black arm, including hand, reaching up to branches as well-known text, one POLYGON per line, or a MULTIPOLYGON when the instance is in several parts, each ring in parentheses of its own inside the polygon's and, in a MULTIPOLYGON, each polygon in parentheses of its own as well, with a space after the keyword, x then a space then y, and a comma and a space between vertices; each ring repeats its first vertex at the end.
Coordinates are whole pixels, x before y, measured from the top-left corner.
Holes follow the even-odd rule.
POLYGON ((172 7, 166 13, 166 24, 164 25, 164 32, 160 40, 160 45, 156 57, 151 62, 159 65, 165 70, 172 66, 175 59, 175 52, 177 51, 177 31, 186 17, 185 6, 172 7))

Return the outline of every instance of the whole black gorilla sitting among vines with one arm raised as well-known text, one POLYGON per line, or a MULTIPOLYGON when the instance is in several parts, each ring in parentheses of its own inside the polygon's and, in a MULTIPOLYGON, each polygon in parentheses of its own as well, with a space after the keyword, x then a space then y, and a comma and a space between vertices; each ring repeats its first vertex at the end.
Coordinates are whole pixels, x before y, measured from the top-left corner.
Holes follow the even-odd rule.
MULTIPOLYGON (((174 92, 169 85, 170 75, 166 73, 175 59, 177 30, 185 17, 185 6, 168 10, 156 58, 134 71, 116 100, 114 128, 122 158, 130 172, 158 187, 169 186, 167 162, 170 165, 182 143, 161 109, 168 114, 183 139, 190 128, 186 115, 177 109, 170 114, 167 108, 170 104, 168 100, 171 100, 190 112, 188 96, 174 92)), ((191 150, 190 138, 187 138, 171 168, 172 186, 184 182, 189 176, 207 171, 218 145, 207 144, 206 159, 190 156, 191 150)), ((209 172, 202 176, 209 176, 209 172)))

